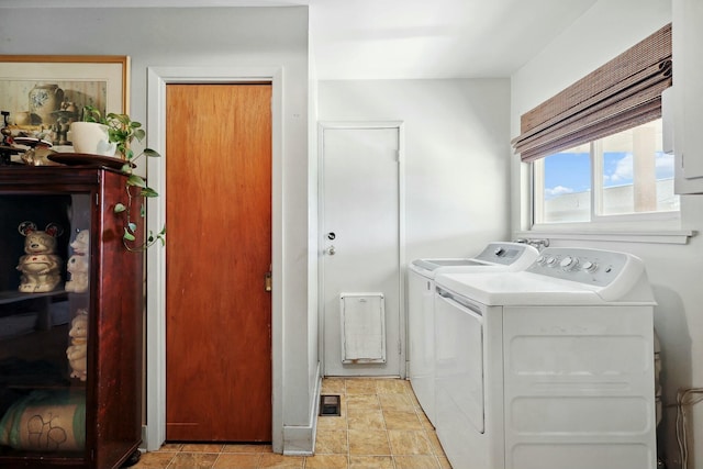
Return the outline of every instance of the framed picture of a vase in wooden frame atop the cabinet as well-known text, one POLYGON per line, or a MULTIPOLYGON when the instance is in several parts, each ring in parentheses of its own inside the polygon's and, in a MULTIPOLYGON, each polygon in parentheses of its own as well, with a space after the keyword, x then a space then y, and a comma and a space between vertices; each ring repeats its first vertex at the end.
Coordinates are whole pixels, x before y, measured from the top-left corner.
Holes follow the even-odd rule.
POLYGON ((83 107, 129 113, 129 77, 127 56, 0 55, 0 111, 13 136, 70 145, 83 107))

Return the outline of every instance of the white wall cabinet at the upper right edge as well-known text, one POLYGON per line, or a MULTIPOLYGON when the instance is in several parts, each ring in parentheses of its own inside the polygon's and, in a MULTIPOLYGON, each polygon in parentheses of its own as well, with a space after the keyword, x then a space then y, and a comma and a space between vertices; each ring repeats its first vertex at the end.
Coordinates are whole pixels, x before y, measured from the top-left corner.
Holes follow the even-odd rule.
POLYGON ((673 0, 674 191, 703 193, 703 2, 673 0))

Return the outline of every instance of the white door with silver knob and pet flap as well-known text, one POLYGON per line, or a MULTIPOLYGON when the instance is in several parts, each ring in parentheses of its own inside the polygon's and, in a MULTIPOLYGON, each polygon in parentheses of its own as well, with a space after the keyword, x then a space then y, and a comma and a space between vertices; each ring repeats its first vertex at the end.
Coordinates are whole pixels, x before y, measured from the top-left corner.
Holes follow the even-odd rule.
POLYGON ((322 129, 325 376, 404 376, 399 155, 399 126, 322 129))

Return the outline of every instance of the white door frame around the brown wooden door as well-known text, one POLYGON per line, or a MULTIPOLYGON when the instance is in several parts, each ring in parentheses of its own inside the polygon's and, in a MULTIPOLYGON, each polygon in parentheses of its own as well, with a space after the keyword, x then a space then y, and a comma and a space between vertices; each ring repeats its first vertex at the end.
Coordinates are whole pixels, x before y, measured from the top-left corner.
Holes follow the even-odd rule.
MULTIPOLYGON (((271 272, 277 284, 282 279, 282 86, 280 67, 147 67, 147 139, 149 147, 167 154, 166 86, 169 83, 271 85, 271 272)), ((166 161, 148 158, 149 187, 161 197, 149 201, 148 226, 166 223, 166 161)), ((157 450, 166 440, 166 247, 146 253, 146 426, 143 442, 147 450, 157 450)), ((282 395, 282 297, 271 292, 271 445, 283 445, 282 395)))

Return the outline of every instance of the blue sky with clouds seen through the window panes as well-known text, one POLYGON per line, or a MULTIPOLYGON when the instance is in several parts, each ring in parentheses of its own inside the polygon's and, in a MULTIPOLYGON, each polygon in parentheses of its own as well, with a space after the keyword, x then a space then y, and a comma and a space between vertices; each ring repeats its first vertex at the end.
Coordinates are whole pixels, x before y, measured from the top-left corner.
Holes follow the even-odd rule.
MULTIPOLYGON (((673 178, 673 155, 658 152, 655 158, 657 180, 673 178)), ((563 152, 545 158, 545 199, 591 190, 591 159, 587 152, 563 152)), ((603 154, 603 187, 633 183, 633 154, 603 154)))

